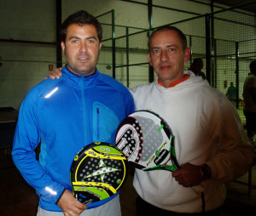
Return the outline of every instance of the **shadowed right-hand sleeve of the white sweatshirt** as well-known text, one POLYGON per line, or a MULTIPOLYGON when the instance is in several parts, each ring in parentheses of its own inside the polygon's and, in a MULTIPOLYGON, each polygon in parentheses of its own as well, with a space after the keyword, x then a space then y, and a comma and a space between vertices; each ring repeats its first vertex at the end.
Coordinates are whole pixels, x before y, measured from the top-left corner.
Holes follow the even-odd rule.
POLYGON ((218 146, 217 155, 206 162, 211 168, 212 179, 228 182, 247 173, 253 162, 253 146, 247 139, 235 106, 227 99, 220 99, 219 108, 208 122, 215 122, 206 128, 218 146))

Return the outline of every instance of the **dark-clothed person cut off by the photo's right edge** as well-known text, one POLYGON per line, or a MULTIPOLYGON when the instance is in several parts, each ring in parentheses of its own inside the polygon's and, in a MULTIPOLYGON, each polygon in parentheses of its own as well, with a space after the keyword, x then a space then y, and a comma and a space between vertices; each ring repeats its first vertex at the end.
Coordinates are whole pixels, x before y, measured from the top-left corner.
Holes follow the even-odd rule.
POLYGON ((253 60, 250 65, 250 73, 247 76, 243 85, 243 112, 247 122, 247 135, 256 146, 254 135, 256 134, 256 60, 253 60))

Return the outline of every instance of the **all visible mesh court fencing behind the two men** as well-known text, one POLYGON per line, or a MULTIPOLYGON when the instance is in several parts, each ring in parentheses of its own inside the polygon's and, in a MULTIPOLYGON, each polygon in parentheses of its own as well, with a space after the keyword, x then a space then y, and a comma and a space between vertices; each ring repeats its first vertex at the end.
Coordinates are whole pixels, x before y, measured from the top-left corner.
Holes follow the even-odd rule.
MULTIPOLYGON (((208 82, 227 95, 245 124, 242 90, 249 64, 256 59, 256 19, 255 14, 241 7, 182 20, 170 26, 182 30, 188 39, 191 57, 185 69, 195 58, 201 58, 208 82), (230 85, 233 85, 233 95, 227 94, 230 85)), ((116 38, 114 66, 116 78, 133 87, 148 82, 148 31, 131 33, 132 28, 128 31, 124 28, 120 28, 124 35, 120 33, 116 38)))

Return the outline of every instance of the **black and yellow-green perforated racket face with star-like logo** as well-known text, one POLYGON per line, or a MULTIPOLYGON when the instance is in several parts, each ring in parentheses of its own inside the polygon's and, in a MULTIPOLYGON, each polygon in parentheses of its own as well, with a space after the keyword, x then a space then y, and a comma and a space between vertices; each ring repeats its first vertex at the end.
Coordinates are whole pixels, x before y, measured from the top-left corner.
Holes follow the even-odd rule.
POLYGON ((120 190, 127 173, 128 162, 118 148, 107 143, 87 145, 70 169, 74 197, 87 205, 105 200, 120 190))

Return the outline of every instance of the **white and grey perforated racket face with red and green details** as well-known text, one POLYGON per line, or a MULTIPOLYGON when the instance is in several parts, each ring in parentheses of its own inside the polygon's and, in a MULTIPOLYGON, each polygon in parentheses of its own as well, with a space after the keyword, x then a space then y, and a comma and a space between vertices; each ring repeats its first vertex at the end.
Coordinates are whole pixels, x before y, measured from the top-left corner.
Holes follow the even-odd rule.
POLYGON ((137 168, 169 171, 179 168, 172 130, 152 111, 136 111, 126 117, 119 125, 116 145, 137 168))

